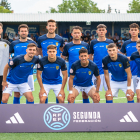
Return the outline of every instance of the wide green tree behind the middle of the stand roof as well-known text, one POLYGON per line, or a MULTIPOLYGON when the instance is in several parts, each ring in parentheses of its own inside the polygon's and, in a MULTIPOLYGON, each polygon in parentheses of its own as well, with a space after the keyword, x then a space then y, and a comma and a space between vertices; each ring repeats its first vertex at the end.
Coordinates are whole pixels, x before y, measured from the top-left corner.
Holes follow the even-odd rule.
MULTIPOLYGON (((91 0, 63 0, 63 3, 57 6, 58 10, 51 7, 50 13, 105 13, 97 7, 97 3, 91 0)), ((48 12, 48 11, 46 11, 48 12)))

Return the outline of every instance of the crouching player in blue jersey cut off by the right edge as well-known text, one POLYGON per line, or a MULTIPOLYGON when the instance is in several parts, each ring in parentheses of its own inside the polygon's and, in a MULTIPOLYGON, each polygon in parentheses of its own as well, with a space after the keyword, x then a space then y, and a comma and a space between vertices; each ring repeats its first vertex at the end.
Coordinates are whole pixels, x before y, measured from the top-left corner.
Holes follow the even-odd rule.
POLYGON ((137 94, 137 103, 140 103, 140 40, 137 41, 136 45, 137 51, 131 54, 130 60, 135 61, 138 73, 137 73, 137 83, 136 83, 136 94, 137 94))

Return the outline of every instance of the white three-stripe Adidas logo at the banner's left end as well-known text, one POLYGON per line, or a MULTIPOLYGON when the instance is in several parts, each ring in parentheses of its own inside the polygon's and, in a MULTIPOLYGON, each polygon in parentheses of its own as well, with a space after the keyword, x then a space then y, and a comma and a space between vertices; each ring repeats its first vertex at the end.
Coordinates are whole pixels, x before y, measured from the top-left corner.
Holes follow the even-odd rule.
POLYGON ((21 116, 19 115, 19 113, 15 113, 14 116, 10 117, 10 120, 6 121, 6 124, 24 124, 24 121, 22 120, 21 116))

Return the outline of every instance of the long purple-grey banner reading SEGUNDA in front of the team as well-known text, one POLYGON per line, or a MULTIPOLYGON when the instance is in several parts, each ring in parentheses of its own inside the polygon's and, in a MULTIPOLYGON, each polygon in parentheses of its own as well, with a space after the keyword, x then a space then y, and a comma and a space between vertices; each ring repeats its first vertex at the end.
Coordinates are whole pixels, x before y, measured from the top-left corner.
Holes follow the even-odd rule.
POLYGON ((140 131, 140 104, 0 105, 0 132, 140 131))

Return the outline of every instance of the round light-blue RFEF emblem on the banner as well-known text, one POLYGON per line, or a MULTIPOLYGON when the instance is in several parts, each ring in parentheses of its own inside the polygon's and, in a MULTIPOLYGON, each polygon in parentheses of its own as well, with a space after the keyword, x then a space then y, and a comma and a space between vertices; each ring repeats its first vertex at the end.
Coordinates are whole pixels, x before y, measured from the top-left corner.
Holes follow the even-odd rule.
POLYGON ((63 106, 54 105, 44 112, 44 123, 52 130, 66 128, 71 120, 70 112, 63 106))

